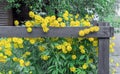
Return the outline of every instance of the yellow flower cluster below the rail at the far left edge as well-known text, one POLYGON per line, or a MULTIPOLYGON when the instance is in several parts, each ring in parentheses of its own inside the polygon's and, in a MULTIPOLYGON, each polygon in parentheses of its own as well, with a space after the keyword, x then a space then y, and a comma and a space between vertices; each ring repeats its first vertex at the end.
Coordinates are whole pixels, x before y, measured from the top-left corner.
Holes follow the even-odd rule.
POLYGON ((30 61, 24 61, 21 58, 25 58, 31 54, 31 52, 26 51, 21 57, 15 57, 13 53, 15 49, 23 48, 23 39, 22 38, 3 38, 0 40, 0 63, 6 63, 7 59, 12 59, 14 62, 20 64, 21 67, 29 66, 30 61))

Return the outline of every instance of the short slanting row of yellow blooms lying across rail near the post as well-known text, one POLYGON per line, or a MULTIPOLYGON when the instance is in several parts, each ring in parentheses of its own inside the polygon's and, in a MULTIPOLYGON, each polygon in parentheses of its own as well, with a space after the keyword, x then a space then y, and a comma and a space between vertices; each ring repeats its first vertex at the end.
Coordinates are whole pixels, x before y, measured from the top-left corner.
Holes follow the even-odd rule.
POLYGON ((100 28, 98 26, 92 26, 90 28, 80 30, 79 36, 85 36, 85 35, 92 33, 92 32, 98 32, 99 30, 100 30, 100 28))

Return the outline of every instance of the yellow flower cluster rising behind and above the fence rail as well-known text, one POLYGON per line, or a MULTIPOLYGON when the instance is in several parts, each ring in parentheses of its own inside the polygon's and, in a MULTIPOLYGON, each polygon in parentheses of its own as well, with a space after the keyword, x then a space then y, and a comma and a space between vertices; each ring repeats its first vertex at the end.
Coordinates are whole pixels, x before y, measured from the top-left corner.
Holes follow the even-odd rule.
MULTIPOLYGON (((61 17, 57 17, 55 15, 42 17, 39 14, 35 14, 33 11, 29 12, 29 17, 32 20, 28 20, 25 22, 25 26, 27 28, 27 32, 32 32, 33 26, 41 26, 44 32, 48 32, 48 27, 78 27, 78 26, 91 26, 90 20, 92 20, 93 15, 86 15, 85 19, 81 19, 79 14, 75 16, 70 14, 68 11, 65 11, 61 17)), ((14 21, 15 25, 18 25, 19 22, 17 20, 14 21)))

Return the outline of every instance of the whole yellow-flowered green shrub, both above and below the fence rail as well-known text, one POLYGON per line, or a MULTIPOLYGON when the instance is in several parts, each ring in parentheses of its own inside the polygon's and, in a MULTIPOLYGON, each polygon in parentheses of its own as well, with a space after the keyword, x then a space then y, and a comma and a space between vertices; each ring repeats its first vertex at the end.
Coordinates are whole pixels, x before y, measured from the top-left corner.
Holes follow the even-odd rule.
MULTIPOLYGON (((80 36, 99 31, 92 26, 92 16, 81 19, 65 11, 60 17, 42 17, 30 11, 32 20, 25 21, 28 32, 40 26, 44 32, 49 27, 83 27, 80 36)), ((14 21, 19 25, 19 21, 14 21)), ((0 72, 2 74, 97 74, 98 41, 96 38, 3 38, 0 40, 0 72)))

